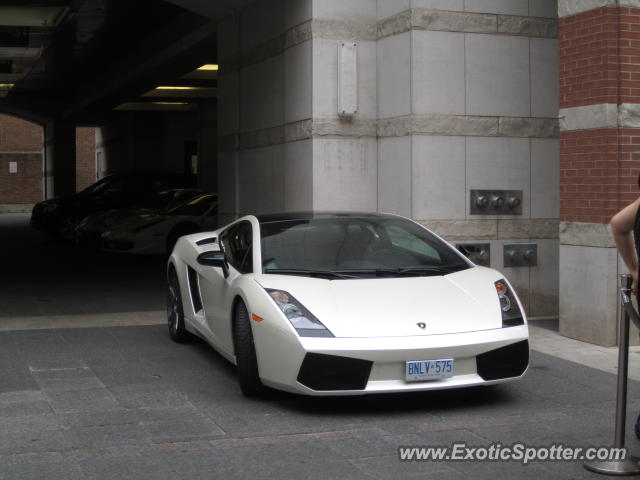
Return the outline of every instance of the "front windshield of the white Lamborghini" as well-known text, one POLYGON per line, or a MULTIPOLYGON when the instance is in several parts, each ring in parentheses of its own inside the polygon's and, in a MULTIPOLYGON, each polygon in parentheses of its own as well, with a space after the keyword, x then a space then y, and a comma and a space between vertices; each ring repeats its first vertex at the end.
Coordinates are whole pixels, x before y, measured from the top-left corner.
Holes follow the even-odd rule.
POLYGON ((398 217, 273 221, 261 224, 260 235, 265 273, 442 275, 468 268, 450 246, 398 217))

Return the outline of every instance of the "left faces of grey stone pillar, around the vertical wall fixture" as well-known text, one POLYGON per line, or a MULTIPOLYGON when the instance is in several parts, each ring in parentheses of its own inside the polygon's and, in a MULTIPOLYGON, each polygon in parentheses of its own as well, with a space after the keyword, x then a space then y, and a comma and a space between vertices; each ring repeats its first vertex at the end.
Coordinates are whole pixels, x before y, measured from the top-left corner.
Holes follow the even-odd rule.
POLYGON ((220 22, 221 221, 377 209, 376 0, 254 2, 220 22), (338 48, 357 44, 358 112, 338 115, 338 48))

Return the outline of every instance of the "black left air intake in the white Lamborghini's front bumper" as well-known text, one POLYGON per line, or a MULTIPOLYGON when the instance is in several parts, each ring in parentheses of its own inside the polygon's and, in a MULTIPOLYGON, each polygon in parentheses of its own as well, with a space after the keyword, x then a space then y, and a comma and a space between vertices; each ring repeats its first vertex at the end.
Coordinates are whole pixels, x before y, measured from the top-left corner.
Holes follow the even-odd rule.
POLYGON ((372 365, 369 360, 307 353, 298 382, 312 390, 364 390, 372 365))

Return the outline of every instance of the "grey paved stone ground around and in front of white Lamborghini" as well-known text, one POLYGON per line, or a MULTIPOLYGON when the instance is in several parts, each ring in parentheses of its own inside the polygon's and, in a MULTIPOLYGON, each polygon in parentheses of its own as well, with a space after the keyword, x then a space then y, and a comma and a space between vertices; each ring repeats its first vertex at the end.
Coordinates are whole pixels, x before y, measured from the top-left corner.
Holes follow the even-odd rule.
MULTIPOLYGON (((615 375, 560 358, 550 330, 532 328, 532 344, 553 354, 534 351, 522 381, 495 388, 246 399, 206 344, 137 324, 161 321, 161 261, 78 252, 25 218, 0 216, 0 479, 599 478, 580 462, 398 459, 399 446, 454 441, 610 445, 615 375), (103 324, 116 326, 91 327, 103 324)), ((629 390, 640 452, 640 383, 629 390)))

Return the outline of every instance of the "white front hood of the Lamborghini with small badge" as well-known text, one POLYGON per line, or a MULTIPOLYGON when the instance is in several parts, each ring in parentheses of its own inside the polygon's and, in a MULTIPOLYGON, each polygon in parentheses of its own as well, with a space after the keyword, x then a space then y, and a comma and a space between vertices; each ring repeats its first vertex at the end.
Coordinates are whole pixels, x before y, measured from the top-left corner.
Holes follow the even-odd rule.
POLYGON ((500 328, 494 286, 500 278, 495 270, 474 267, 446 276, 326 280, 265 274, 256 281, 289 292, 336 337, 387 337, 500 328))

